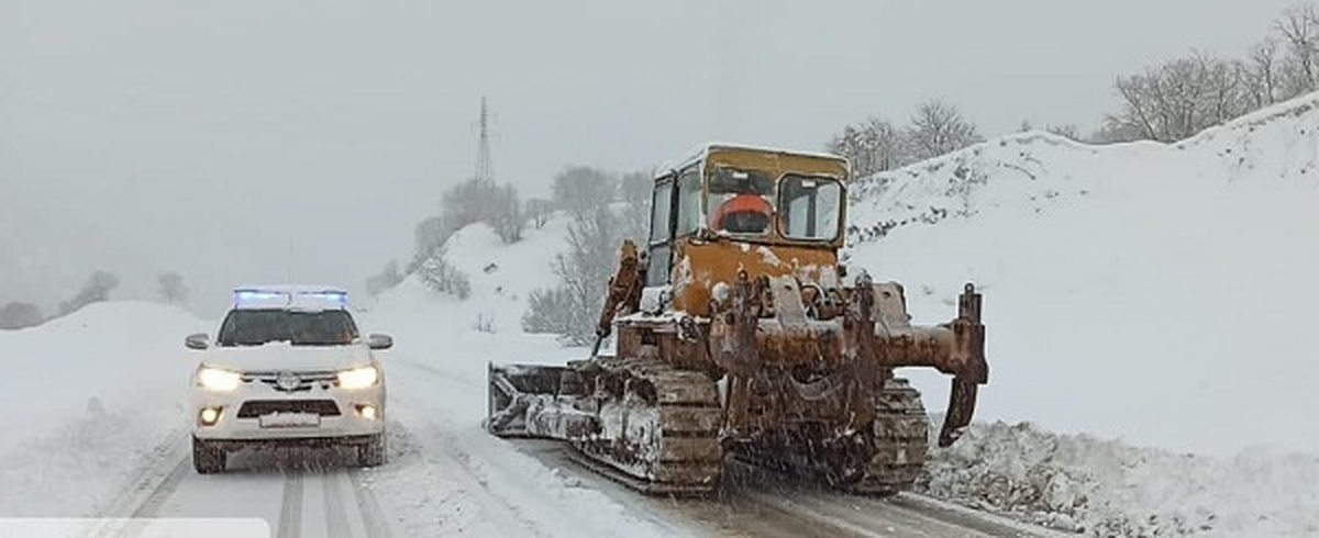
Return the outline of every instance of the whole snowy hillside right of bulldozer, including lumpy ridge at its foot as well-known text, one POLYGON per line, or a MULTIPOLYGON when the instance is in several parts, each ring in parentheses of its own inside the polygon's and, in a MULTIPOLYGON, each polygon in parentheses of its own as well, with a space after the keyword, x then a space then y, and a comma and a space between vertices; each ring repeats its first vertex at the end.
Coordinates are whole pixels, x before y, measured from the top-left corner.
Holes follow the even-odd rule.
POLYGON ((936 451, 931 493, 1096 535, 1319 533, 1319 94, 1173 145, 1010 136, 852 195, 851 266, 921 323, 976 282, 977 417, 1038 425, 936 451))

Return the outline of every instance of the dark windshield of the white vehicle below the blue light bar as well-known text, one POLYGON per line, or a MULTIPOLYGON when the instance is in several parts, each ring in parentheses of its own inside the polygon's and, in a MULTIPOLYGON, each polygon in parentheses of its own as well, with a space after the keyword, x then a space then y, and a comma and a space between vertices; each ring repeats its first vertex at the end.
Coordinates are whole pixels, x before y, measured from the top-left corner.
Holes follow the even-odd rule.
POLYGON ((357 327, 343 310, 233 310, 224 318, 216 344, 236 347, 288 342, 293 345, 344 345, 355 338, 357 327))

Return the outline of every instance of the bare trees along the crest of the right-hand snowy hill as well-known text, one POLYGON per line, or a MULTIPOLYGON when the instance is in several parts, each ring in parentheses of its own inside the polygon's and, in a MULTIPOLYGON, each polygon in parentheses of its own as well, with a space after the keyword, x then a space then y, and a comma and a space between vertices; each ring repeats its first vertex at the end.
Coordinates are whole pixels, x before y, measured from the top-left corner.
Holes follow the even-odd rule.
MULTIPOLYGON (((1319 90, 1319 9, 1298 4, 1274 20, 1268 36, 1241 58, 1192 51, 1113 82, 1117 109, 1097 131, 1071 125, 1046 131, 1096 144, 1173 142, 1252 111, 1319 90)), ((1022 131, 1030 131, 1029 123, 1022 131)), ((906 125, 880 116, 843 127, 827 144, 852 161, 857 177, 898 169, 981 140, 958 107, 921 104, 906 125)))

